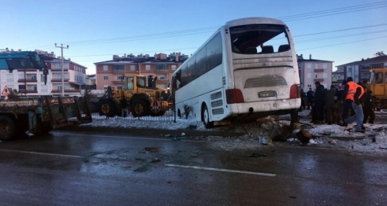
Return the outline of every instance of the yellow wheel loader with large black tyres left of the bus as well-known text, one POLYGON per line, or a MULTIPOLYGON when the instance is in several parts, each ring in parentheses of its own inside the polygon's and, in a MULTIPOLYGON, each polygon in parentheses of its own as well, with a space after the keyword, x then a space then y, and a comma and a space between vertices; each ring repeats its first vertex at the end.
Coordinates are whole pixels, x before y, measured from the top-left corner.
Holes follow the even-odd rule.
POLYGON ((106 93, 98 102, 100 115, 114 117, 121 115, 120 100, 126 99, 129 111, 133 117, 162 116, 172 108, 171 92, 167 89, 156 88, 157 77, 144 75, 124 75, 123 89, 114 89, 108 86, 106 93))

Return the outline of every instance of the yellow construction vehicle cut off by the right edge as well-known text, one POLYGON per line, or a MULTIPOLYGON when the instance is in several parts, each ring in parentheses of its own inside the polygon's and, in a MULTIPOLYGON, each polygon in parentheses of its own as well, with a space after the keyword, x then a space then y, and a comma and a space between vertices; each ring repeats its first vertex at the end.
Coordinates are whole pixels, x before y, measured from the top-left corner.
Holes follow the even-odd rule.
POLYGON ((387 68, 370 69, 368 90, 372 91, 375 109, 387 109, 387 68))

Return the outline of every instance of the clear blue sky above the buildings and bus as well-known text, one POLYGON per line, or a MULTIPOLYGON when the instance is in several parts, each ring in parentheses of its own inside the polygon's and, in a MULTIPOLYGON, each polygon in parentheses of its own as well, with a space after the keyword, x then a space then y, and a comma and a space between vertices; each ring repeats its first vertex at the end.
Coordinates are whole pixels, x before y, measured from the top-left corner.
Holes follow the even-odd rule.
POLYGON ((227 21, 281 19, 296 53, 341 64, 387 53, 387 1, 1 0, 0 49, 44 50, 95 74, 96 62, 123 56, 191 55, 227 21))

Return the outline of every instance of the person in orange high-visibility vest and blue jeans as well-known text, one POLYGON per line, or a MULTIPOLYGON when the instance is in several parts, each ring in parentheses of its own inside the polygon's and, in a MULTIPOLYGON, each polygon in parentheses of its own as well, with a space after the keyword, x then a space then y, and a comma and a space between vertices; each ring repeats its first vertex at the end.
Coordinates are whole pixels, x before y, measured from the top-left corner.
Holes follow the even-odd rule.
POLYGON ((362 97, 364 97, 364 85, 356 84, 353 81, 348 81, 348 93, 346 95, 346 100, 351 100, 352 109, 355 111, 355 115, 350 116, 343 120, 347 125, 354 122, 356 120, 356 129, 357 132, 364 132, 363 127, 363 106, 362 97))

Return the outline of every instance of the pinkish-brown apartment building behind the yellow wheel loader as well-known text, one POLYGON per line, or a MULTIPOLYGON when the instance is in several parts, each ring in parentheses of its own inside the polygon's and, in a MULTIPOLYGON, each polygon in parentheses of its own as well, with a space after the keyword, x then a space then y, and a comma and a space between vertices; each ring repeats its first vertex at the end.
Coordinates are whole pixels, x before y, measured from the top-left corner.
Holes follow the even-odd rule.
POLYGON ((133 54, 123 57, 113 56, 112 60, 94 63, 96 67, 97 89, 106 89, 112 86, 117 89, 124 88, 124 76, 144 75, 157 77, 158 88, 168 88, 171 78, 176 69, 188 59, 187 55, 181 53, 163 53, 149 55, 133 54))

